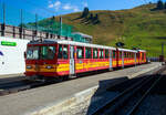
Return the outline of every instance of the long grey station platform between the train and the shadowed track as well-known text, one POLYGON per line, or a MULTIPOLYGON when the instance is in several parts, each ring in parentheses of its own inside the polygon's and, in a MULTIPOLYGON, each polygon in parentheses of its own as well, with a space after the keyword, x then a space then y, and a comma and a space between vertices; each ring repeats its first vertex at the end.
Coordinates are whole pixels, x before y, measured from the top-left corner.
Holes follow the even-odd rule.
POLYGON ((0 96, 0 115, 55 115, 58 109, 61 111, 63 106, 75 102, 75 96, 80 98, 79 95, 83 95, 80 92, 83 93, 92 87, 97 88, 101 81, 107 80, 103 83, 103 87, 105 87, 106 84, 121 79, 132 79, 157 70, 159 66, 162 66, 162 63, 157 62, 144 64, 0 96), (62 104, 69 98, 72 100, 62 104), (60 104, 61 106, 56 107, 60 104))

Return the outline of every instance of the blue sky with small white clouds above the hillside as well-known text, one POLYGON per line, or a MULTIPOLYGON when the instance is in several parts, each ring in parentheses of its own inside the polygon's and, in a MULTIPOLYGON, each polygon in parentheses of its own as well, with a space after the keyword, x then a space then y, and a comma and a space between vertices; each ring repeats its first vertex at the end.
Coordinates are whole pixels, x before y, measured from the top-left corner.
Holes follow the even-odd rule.
MULTIPOLYGON (((82 11, 84 7, 90 10, 121 10, 157 0, 1 0, 7 7, 7 22, 9 24, 20 22, 20 9, 23 10, 23 21, 33 22, 34 14, 39 19, 52 15, 66 14, 82 11)), ((2 14, 2 10, 0 11, 2 14)), ((2 17, 0 17, 2 21, 2 17)))

